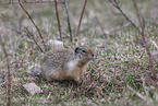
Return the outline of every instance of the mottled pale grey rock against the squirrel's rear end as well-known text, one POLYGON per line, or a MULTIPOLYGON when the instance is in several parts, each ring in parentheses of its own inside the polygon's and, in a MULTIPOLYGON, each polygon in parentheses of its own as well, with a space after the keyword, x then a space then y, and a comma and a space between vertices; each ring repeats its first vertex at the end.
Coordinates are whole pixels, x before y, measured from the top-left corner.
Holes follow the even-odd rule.
POLYGON ((28 68, 28 73, 34 76, 41 76, 40 64, 34 64, 28 68))

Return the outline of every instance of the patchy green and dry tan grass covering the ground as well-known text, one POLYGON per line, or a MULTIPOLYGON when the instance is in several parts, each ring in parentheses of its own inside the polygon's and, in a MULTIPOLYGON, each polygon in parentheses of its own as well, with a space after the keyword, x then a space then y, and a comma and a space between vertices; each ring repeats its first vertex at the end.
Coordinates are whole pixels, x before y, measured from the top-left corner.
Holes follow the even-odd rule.
MULTIPOLYGON (((78 22, 82 1, 69 1, 69 13, 73 34, 78 22)), ((131 2, 122 0, 122 9, 136 23, 136 16, 131 2), (133 9, 133 10, 132 10, 133 9)), ((158 20, 157 0, 138 0, 138 7, 145 16, 145 33, 151 51, 157 55, 158 43, 158 20), (153 42, 151 42, 153 40, 153 42)), ((49 39, 59 39, 57 21, 53 4, 26 4, 31 15, 37 25, 42 28, 46 43, 49 39)), ((99 19, 106 32, 110 32, 126 23, 124 17, 109 2, 88 1, 81 33, 76 42, 70 44, 66 38, 68 26, 64 14, 64 7, 60 5, 60 19, 64 31, 64 47, 74 48, 80 45, 87 45, 95 51, 95 58, 89 62, 86 73, 82 76, 82 85, 75 86, 65 82, 46 82, 31 76, 28 67, 40 59, 40 52, 36 45, 26 36, 15 33, 19 26, 28 27, 34 35, 37 32, 24 12, 16 5, 2 5, 0 8, 0 34, 5 38, 5 48, 10 55, 11 68, 20 64, 24 58, 22 68, 12 74, 12 105, 117 105, 137 106, 157 105, 158 90, 146 74, 151 75, 148 66, 148 57, 144 48, 135 44, 135 35, 138 33, 131 26, 112 33, 109 37, 104 35, 95 20, 99 19), (7 19, 2 19, 5 16, 7 19), (19 19, 19 20, 17 20, 19 19), (17 22, 20 24, 17 24, 17 22), (145 80, 144 80, 145 79, 145 80), (23 89, 25 83, 35 82, 41 92, 28 95, 23 89)), ((36 39, 39 38, 36 36, 36 39)), ((38 43, 41 42, 39 40, 38 43)), ((50 50, 50 48, 48 49, 50 50)), ((0 48, 0 78, 7 75, 4 56, 0 48)), ((158 64, 155 63, 157 73, 158 64)), ((157 82, 156 82, 157 83, 157 82)), ((0 104, 7 104, 7 81, 0 85, 0 104)))

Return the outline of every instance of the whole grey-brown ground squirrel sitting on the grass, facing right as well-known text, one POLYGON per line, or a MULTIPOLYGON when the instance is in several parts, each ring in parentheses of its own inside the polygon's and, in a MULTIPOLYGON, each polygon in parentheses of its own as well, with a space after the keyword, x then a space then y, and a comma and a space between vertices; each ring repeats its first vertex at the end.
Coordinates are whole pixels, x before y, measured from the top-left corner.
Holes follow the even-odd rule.
POLYGON ((76 47, 74 50, 60 48, 48 51, 41 59, 41 74, 48 80, 74 80, 86 71, 88 61, 94 57, 90 48, 76 47))

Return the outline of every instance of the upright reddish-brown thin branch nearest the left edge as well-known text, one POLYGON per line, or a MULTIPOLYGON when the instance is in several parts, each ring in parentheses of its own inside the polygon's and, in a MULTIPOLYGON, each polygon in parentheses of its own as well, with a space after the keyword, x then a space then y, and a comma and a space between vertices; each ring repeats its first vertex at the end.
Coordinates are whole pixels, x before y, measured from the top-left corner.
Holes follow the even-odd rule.
POLYGON ((7 102, 7 106, 11 105, 11 74, 10 74, 10 60, 8 58, 8 52, 5 50, 4 47, 4 39, 2 39, 1 35, 0 35, 0 44, 7 60, 7 68, 8 68, 8 102, 7 102))

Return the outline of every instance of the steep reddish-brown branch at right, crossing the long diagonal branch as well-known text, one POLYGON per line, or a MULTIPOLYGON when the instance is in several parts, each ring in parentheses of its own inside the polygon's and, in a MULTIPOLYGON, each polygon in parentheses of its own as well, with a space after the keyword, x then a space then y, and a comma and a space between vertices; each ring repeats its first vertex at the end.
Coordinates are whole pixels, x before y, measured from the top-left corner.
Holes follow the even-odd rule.
MULTIPOLYGON (((143 27, 143 22, 142 22, 142 16, 141 16, 141 14, 139 14, 139 11, 138 11, 138 8, 137 8, 137 4, 136 4, 136 2, 135 2, 135 0, 132 0, 132 2, 133 2, 133 7, 134 7, 134 9, 135 9, 135 11, 136 11, 136 14, 137 14, 137 19, 138 19, 138 23, 139 23, 139 32, 141 32, 141 35, 142 35, 142 39, 143 39, 143 46, 146 48, 146 50, 147 50, 147 54, 148 54, 148 62, 149 62, 149 66, 150 66, 150 69, 153 70, 154 69, 154 63, 153 63, 153 60, 151 60, 151 55, 150 55, 150 50, 149 50, 149 48, 148 48, 148 45, 147 45, 147 43, 146 43, 146 38, 145 38, 145 34, 144 34, 144 27, 143 27)), ((155 72, 153 71, 153 73, 154 73, 154 75, 155 75, 155 72)))

